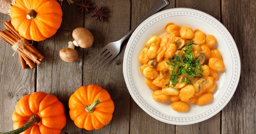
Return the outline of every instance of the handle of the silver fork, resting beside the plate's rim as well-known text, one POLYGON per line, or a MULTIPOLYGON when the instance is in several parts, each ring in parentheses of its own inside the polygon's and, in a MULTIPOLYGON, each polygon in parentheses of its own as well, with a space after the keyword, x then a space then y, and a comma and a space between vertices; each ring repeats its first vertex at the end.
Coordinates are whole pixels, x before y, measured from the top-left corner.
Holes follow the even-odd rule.
POLYGON ((159 0, 156 5, 146 14, 146 16, 144 16, 143 19, 140 20, 139 23, 137 23, 136 26, 134 26, 131 31, 129 31, 126 35, 124 35, 124 37, 120 40, 120 41, 124 41, 129 35, 132 34, 132 32, 140 25, 140 23, 142 23, 144 20, 146 20, 148 17, 150 17, 151 15, 153 15, 154 13, 156 13, 157 11, 159 11, 160 9, 164 8, 166 5, 169 4, 168 0, 159 0))

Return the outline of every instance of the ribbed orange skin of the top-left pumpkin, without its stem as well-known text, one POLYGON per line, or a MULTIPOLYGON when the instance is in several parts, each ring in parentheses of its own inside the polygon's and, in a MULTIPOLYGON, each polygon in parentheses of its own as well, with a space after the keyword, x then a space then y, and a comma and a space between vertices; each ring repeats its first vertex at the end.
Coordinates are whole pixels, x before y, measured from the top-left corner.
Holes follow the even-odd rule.
POLYGON ((15 0, 10 17, 12 25, 22 37, 43 41, 60 28, 62 10, 56 0, 15 0), (36 18, 27 19, 26 15, 31 9, 36 11, 36 18))

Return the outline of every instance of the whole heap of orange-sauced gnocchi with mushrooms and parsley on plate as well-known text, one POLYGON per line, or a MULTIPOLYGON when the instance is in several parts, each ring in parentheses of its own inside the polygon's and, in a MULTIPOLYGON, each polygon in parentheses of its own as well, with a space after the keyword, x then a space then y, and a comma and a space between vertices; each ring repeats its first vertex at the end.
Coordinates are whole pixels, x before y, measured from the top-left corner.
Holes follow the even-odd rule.
POLYGON ((214 35, 172 22, 166 34, 153 35, 139 54, 140 72, 158 102, 171 101, 177 112, 190 103, 202 106, 213 99, 219 72, 225 69, 214 35))

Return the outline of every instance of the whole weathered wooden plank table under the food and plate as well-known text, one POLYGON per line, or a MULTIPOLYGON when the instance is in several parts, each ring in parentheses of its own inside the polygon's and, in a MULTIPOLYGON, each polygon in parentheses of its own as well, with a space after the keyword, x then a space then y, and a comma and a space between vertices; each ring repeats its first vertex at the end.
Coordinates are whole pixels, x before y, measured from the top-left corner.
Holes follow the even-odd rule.
MULTIPOLYGON (((256 132, 256 2, 251 0, 169 0, 164 9, 187 7, 204 11, 227 27, 233 36, 241 58, 241 76, 236 92, 227 106, 212 118, 191 125, 172 125, 160 122, 146 114, 132 100, 123 76, 123 56, 127 41, 120 54, 109 64, 93 71, 86 64, 108 42, 122 38, 131 27, 152 8, 158 0, 91 0, 92 6, 104 6, 108 18, 104 22, 91 18, 92 12, 81 13, 75 0, 73 4, 63 1, 63 21, 60 29, 51 38, 37 43, 37 49, 45 57, 34 69, 22 70, 18 55, 0 41, 0 131, 12 130, 12 112, 15 104, 26 94, 43 91, 53 94, 64 104, 67 124, 64 134, 110 133, 110 134, 161 134, 161 133, 232 133, 252 134, 256 132), (73 63, 60 59, 59 51, 72 41, 72 31, 86 27, 94 35, 91 48, 76 48, 79 58, 73 63), (112 121, 100 130, 87 131, 75 126, 68 115, 68 99, 83 85, 97 84, 107 89, 115 104, 112 121)), ((164 10, 163 9, 163 10, 164 10)), ((0 14, 0 24, 10 20, 9 15, 0 14)), ((4 26, 0 26, 4 30, 4 26)))

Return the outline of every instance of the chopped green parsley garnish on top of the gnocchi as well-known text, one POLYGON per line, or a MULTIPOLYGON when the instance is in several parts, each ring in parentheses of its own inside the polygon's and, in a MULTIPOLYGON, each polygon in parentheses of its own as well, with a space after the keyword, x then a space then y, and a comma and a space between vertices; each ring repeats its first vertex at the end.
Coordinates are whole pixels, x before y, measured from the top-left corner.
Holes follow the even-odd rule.
POLYGON ((181 79, 181 82, 187 82, 189 84, 189 78, 194 78, 196 76, 202 77, 202 72, 204 71, 199 65, 199 58, 193 56, 193 41, 188 42, 188 45, 183 50, 185 55, 181 57, 174 54, 174 59, 170 59, 167 64, 171 65, 172 72, 170 73, 170 80, 172 86, 175 86, 178 83, 178 78, 181 75, 185 75, 188 78, 181 79))

